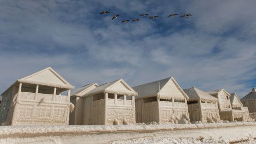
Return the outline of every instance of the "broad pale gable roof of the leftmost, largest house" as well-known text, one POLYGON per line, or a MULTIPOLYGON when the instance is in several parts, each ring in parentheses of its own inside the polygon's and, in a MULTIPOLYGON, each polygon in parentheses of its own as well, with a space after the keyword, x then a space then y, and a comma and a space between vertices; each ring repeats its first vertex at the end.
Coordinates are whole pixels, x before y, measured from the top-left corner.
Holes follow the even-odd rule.
POLYGON ((51 67, 47 67, 34 74, 18 79, 20 83, 38 84, 46 86, 60 87, 64 89, 74 89, 74 86, 69 84, 51 67))

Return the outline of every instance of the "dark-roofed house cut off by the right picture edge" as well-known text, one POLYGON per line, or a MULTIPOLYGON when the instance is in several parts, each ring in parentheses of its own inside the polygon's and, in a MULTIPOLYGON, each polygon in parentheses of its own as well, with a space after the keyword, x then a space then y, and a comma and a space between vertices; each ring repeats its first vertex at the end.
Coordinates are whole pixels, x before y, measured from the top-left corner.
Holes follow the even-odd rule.
POLYGON ((249 113, 256 113, 256 89, 253 87, 252 91, 241 99, 241 102, 248 107, 249 113))

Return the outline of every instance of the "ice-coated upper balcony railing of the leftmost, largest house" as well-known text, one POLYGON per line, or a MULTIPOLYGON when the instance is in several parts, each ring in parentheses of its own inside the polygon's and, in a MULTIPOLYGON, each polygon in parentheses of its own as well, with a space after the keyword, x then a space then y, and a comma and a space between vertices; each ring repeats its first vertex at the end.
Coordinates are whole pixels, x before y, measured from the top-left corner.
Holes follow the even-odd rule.
MULTIPOLYGON (((21 92, 21 100, 31 100, 31 101, 54 101, 53 94, 37 93, 37 98, 35 99, 35 93, 31 92, 21 92)), ((55 102, 66 102, 66 97, 64 95, 55 95, 55 102)))

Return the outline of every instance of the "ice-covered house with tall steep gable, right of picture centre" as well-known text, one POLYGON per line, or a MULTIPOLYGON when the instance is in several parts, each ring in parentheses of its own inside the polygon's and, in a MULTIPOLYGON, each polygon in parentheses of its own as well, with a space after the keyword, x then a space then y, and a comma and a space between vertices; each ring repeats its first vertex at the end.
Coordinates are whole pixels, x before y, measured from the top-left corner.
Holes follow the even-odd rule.
POLYGON ((135 98, 136 122, 169 122, 188 117, 188 95, 173 77, 132 87, 135 98))

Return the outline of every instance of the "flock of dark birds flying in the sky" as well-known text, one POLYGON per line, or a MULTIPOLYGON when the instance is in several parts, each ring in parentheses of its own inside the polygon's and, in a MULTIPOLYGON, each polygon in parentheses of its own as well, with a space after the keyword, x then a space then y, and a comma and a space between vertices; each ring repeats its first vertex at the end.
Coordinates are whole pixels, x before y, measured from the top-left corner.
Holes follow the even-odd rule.
MULTIPOLYGON (((103 11, 103 12, 101 12, 100 14, 101 14, 101 15, 105 15, 105 14, 108 14, 108 13, 110 13, 110 12, 109 12, 109 11, 103 11)), ((141 17, 147 17, 148 15, 149 15, 148 13, 142 13, 142 14, 140 14, 141 17)), ((177 13, 172 13, 172 14, 168 15, 168 17, 175 17, 176 15, 178 15, 178 14, 177 14, 177 13)), ((182 17, 188 18, 190 15, 192 15, 192 14, 186 14, 186 13, 184 13, 183 15, 181 15, 180 18, 182 18, 182 17)), ((112 20, 117 19, 118 17, 119 17, 119 14, 114 14, 112 20)), ((149 19, 156 19, 157 17, 159 17, 159 15, 153 15, 153 16, 149 17, 149 19)), ((126 22, 129 22, 129 21, 130 21, 130 20, 125 19, 125 20, 123 20, 123 21, 121 21, 121 22, 125 22, 125 23, 126 23, 126 22)), ((133 19, 132 21, 138 22, 138 21, 140 21, 140 19, 135 18, 135 19, 133 19)))

